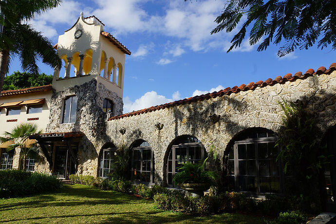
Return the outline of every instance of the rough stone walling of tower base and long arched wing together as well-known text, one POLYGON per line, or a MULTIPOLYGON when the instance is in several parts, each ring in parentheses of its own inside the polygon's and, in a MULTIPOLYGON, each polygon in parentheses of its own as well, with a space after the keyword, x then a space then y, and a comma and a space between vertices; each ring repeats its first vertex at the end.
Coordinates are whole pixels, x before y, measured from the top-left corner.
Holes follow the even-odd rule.
POLYGON ((103 99, 109 98, 115 103, 117 108, 113 115, 122 112, 122 100, 103 85, 96 88, 93 79, 53 93, 47 132, 84 132, 79 145, 77 173, 93 176, 97 175, 98 155, 104 144, 111 142, 119 148, 131 147, 134 141, 143 139, 154 152, 155 182, 164 184, 165 159, 176 137, 195 136, 206 151, 213 145, 222 159, 229 142, 243 130, 261 127, 278 132, 282 116, 278 102, 282 99, 307 103, 309 110, 316 114, 323 133, 336 124, 335 93, 336 71, 107 121, 107 115, 101 110, 103 99), (78 97, 76 122, 60 124, 62 102, 69 95, 78 97), (210 121, 209 116, 213 114, 220 115, 218 122, 210 121), (162 130, 155 127, 158 123, 164 125, 162 130), (126 130, 124 134, 120 132, 122 129, 126 130))

